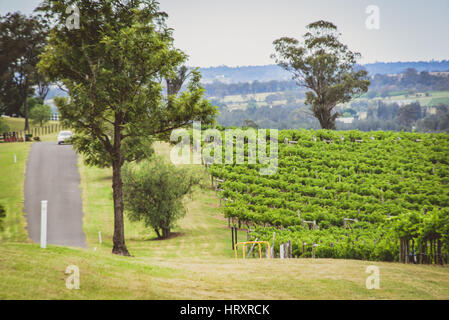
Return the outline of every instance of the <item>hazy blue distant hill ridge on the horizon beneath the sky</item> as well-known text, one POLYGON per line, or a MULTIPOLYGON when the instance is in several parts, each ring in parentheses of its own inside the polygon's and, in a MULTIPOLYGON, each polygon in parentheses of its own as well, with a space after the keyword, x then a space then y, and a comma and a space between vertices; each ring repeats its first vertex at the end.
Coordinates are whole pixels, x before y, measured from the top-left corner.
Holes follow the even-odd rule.
MULTIPOLYGON (((376 62, 363 65, 370 75, 375 74, 397 74, 408 68, 417 71, 449 71, 449 60, 443 61, 418 61, 418 62, 376 62)), ((224 83, 290 80, 288 72, 277 65, 266 66, 243 66, 243 67, 211 67, 200 68, 203 82, 210 83, 220 81, 224 83)))

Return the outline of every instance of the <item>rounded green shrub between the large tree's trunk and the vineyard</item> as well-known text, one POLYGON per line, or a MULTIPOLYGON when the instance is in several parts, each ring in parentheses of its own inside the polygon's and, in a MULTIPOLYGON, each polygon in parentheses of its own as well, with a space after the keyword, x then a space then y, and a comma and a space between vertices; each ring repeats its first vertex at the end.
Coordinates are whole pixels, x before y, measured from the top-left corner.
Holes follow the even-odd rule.
POLYGON ((198 175, 156 156, 126 163, 122 172, 129 219, 143 221, 159 239, 168 238, 176 221, 186 213, 183 198, 199 184, 198 175))

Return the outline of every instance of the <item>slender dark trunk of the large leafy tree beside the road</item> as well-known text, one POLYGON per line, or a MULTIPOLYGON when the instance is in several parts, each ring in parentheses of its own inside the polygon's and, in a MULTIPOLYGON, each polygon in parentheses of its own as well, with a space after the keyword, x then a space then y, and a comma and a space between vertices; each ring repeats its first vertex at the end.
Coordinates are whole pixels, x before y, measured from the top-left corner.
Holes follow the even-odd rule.
POLYGON ((116 116, 114 124, 114 157, 112 160, 112 189, 114 196, 114 246, 112 253, 130 256, 125 245, 125 225, 123 221, 123 181, 122 181, 122 155, 121 155, 121 119, 116 116), (117 119, 118 118, 118 119, 117 119))

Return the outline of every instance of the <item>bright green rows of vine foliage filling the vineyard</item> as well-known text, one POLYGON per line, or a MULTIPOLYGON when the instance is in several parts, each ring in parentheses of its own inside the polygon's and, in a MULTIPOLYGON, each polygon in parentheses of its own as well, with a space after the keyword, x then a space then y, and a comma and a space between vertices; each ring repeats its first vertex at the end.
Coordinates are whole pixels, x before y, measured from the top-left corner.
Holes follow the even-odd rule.
POLYGON ((316 257, 382 261, 398 260, 399 238, 438 239, 448 255, 447 134, 284 130, 278 141, 274 175, 261 176, 261 163, 209 169, 224 181, 225 217, 254 238, 276 232, 276 248, 292 240, 296 256, 315 243, 316 257))

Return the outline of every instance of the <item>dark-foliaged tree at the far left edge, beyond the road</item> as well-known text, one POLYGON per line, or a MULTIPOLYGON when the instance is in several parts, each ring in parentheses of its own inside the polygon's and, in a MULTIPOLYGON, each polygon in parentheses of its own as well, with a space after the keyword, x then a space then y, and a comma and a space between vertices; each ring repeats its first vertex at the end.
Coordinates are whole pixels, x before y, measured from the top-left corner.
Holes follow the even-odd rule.
POLYGON ((40 16, 16 12, 0 17, 0 111, 24 116, 25 130, 29 129, 27 98, 34 94, 34 86, 39 86, 43 98, 48 92, 48 83, 36 69, 47 36, 47 22, 40 16))

